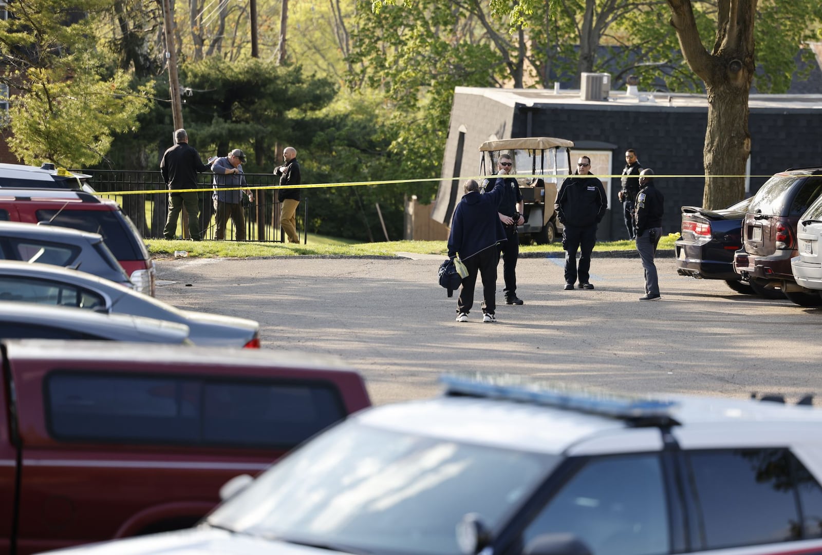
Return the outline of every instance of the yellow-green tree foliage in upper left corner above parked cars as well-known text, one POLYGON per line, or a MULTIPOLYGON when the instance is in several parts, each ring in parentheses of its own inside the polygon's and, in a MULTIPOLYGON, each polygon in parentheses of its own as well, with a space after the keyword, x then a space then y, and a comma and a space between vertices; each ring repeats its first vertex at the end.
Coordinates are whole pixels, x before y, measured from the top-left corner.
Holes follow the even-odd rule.
POLYGON ((8 144, 25 162, 97 163, 113 134, 133 130, 147 108, 151 84, 132 85, 95 48, 90 18, 105 7, 103 0, 30 0, 0 21, 0 53, 12 68, 3 80, 20 91, 9 109, 8 144))

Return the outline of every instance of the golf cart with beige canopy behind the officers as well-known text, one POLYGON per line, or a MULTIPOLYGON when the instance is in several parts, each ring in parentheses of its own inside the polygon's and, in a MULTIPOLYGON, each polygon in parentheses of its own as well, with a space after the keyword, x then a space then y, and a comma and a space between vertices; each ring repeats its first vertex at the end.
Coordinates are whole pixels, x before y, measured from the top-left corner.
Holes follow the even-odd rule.
POLYGON ((481 175, 496 174, 501 154, 509 154, 514 166, 511 175, 517 177, 523 199, 523 225, 517 227, 520 241, 533 239, 538 245, 552 243, 562 232, 562 224, 556 221, 554 201, 559 189, 557 176, 570 174, 570 140, 553 137, 528 137, 524 139, 487 140, 480 144, 482 153, 481 175), (522 177, 520 177, 522 176, 522 177))

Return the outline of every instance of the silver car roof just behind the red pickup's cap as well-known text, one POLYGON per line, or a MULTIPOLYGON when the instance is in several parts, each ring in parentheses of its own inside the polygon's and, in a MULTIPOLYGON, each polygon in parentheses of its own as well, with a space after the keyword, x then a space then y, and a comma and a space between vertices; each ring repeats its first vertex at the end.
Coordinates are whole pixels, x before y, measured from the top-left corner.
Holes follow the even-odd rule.
MULTIPOLYGON (((0 319, 90 333, 115 341, 181 343, 188 337, 188 326, 182 323, 132 314, 101 314, 73 306, 36 305, 12 300, 0 302, 0 319)), ((145 351, 145 346, 142 349, 145 351)))

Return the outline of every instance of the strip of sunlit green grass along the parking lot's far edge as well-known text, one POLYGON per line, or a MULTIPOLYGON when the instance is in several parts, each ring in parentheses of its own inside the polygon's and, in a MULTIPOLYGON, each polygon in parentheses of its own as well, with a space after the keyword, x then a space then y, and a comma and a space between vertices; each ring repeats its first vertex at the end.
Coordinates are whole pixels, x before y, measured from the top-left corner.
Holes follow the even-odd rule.
MULTIPOLYGON (((673 242, 679 237, 671 233, 659 241, 659 250, 673 249, 673 242)), ((185 250, 188 256, 200 258, 248 258, 252 256, 396 256, 398 252, 412 252, 418 255, 446 256, 446 241, 390 241, 380 243, 357 243, 348 239, 308 234, 307 245, 287 243, 256 243, 236 241, 167 241, 150 239, 146 241, 149 252, 157 258, 172 257, 175 250, 185 250)), ((633 241, 600 242, 594 251, 635 250, 633 241)), ((559 242, 552 245, 520 245, 520 252, 561 252, 559 242)))

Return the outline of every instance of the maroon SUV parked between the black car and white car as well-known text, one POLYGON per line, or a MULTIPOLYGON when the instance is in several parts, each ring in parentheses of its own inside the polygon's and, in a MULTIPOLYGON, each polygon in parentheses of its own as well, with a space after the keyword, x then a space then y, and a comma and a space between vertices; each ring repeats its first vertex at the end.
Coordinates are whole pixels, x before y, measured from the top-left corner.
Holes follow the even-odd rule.
POLYGON ((822 167, 791 168, 771 177, 756 192, 742 222, 742 248, 733 268, 759 294, 782 291, 797 305, 822 299, 797 284, 791 259, 797 256, 797 222, 822 195, 822 167))

